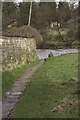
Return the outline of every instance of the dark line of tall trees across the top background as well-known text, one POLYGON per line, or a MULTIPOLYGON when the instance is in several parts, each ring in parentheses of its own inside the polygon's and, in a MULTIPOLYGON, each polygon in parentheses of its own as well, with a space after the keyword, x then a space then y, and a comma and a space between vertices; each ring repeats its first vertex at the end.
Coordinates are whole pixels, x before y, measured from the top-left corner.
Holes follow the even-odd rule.
MULTIPOLYGON (((9 24, 16 21, 17 26, 28 25, 30 2, 2 3, 2 25, 6 29, 9 24)), ((37 29, 45 29, 51 22, 59 22, 64 27, 70 19, 77 20, 79 6, 68 2, 33 2, 31 14, 31 26, 37 29)))

